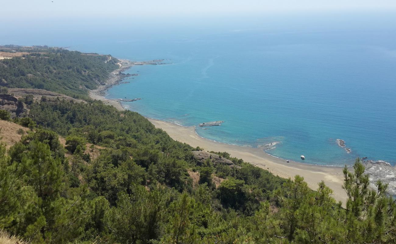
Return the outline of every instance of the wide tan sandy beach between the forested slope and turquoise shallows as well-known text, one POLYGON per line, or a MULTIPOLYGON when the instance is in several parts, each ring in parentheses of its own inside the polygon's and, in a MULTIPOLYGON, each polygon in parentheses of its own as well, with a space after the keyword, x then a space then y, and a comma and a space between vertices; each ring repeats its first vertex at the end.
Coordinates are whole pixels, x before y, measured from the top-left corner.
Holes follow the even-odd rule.
POLYGON ((284 159, 266 154, 261 148, 234 146, 202 138, 195 133, 195 127, 183 127, 156 119, 148 120, 155 127, 166 131, 174 140, 185 142, 190 146, 199 146, 205 150, 215 152, 228 152, 232 157, 242 158, 246 162, 267 169, 274 175, 279 175, 283 178, 293 178, 295 175, 301 175, 313 190, 316 190, 318 183, 323 180, 333 190, 335 200, 345 203, 347 196, 341 188, 344 180, 342 167, 311 165, 293 161, 286 163, 284 159))

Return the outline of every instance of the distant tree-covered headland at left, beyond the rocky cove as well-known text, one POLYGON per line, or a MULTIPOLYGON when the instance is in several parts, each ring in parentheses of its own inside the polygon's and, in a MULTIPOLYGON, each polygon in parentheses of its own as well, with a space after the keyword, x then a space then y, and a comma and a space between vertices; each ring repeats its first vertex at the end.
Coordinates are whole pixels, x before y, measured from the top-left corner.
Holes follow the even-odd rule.
MULTIPOLYGON (((26 50, 24 50, 26 51, 26 50)), ((0 85, 38 88, 73 97, 103 83, 118 60, 109 55, 82 54, 60 48, 29 49, 21 58, 0 60, 0 85)))

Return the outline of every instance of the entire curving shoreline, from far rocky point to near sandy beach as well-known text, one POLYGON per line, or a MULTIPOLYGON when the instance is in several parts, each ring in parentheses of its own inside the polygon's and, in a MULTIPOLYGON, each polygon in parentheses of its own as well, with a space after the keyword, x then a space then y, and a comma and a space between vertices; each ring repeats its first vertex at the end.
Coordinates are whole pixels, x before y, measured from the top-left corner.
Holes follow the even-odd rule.
MULTIPOLYGON (((142 62, 141 64, 150 64, 142 62)), ((137 65, 137 63, 129 62, 127 60, 120 60, 119 69, 116 69, 110 74, 109 80, 105 85, 99 86, 95 90, 89 92, 89 97, 96 100, 101 100, 103 103, 114 106, 116 109, 123 111, 125 108, 118 100, 110 100, 104 98, 105 91, 114 85, 118 85, 125 77, 123 71, 137 65)), ((257 167, 261 167, 278 175, 282 178, 294 178, 295 175, 304 177, 308 186, 312 190, 318 188, 318 183, 324 181, 326 185, 333 190, 333 198, 336 201, 342 201, 345 205, 347 196, 342 188, 344 183, 343 167, 314 165, 308 163, 300 163, 290 161, 286 163, 285 159, 281 159, 264 152, 262 148, 252 148, 249 146, 237 146, 217 142, 204 138, 196 133, 195 127, 185 127, 175 123, 161 121, 158 119, 147 118, 155 127, 164 130, 169 134, 173 140, 187 143, 192 147, 199 146, 200 148, 214 152, 228 152, 232 157, 241 158, 245 162, 249 162, 257 167)))

